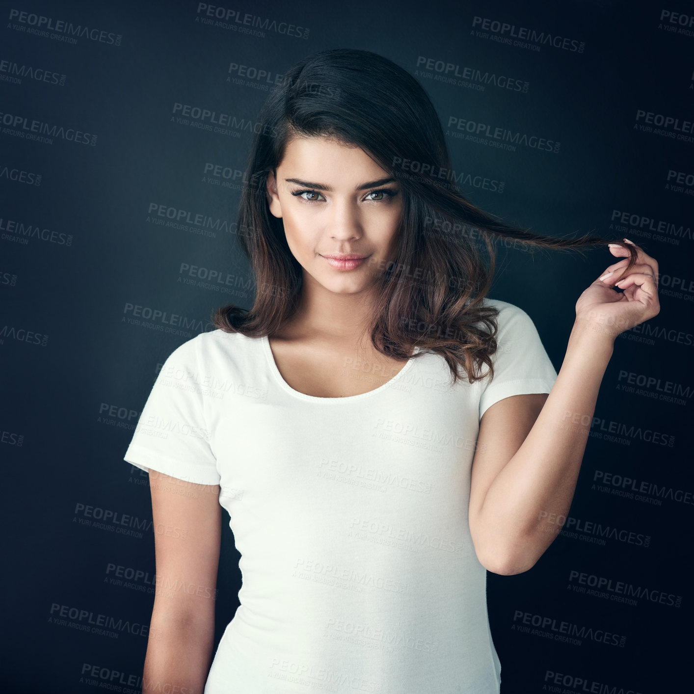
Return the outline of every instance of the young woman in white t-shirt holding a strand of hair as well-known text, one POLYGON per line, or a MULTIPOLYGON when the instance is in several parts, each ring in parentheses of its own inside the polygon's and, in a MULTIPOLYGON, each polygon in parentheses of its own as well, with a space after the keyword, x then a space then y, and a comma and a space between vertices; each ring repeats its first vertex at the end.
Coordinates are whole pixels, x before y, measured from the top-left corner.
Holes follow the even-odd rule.
POLYGON ((507 226, 451 169, 423 88, 375 53, 316 53, 269 95, 238 219, 255 303, 174 350, 125 455, 157 528, 145 694, 498 693, 486 570, 559 531, 658 265, 609 244, 557 375, 486 297, 493 244, 607 241, 507 226), (243 584, 212 658, 221 507, 243 584))

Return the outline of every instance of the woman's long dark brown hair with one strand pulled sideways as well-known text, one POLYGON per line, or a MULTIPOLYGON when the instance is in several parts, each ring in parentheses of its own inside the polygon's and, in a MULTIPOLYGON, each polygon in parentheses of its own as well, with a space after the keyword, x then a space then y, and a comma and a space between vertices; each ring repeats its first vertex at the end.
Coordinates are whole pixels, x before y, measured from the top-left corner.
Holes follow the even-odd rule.
MULTIPOLYGON (((282 220, 269 212, 266 180, 276 172, 291 137, 329 137, 358 146, 403 189, 398 250, 373 269, 377 298, 369 328, 373 346, 393 359, 414 347, 441 355, 468 382, 490 375, 498 310, 484 305, 495 268, 494 243, 514 239, 527 250, 607 244, 586 234, 553 239, 509 226, 459 191, 434 105, 405 69, 371 51, 335 49, 300 60, 269 94, 248 155, 237 229, 255 274, 250 310, 230 304, 212 316, 216 328, 248 337, 271 336, 294 313, 301 265, 291 253, 282 220), (407 164, 405 164, 407 162, 407 164), (416 171, 416 173, 413 173, 416 171), (489 367, 480 373, 482 364, 489 367)), ((629 249, 629 271, 637 254, 629 249)))

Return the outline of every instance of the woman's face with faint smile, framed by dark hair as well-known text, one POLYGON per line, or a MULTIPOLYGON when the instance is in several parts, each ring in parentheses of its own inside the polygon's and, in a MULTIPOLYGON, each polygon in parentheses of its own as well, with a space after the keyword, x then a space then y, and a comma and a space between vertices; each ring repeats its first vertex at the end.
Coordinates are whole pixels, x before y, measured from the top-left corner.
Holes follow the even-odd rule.
POLYGON ((369 289, 395 255, 403 211, 400 185, 362 149, 323 137, 291 139, 268 176, 270 212, 287 244, 315 280, 338 294, 369 289), (330 260, 353 254, 361 261, 330 260))

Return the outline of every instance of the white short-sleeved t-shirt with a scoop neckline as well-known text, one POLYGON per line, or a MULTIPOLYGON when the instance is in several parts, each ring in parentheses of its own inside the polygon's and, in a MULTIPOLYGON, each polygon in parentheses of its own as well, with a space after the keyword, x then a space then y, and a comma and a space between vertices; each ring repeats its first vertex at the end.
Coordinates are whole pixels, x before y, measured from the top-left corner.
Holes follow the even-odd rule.
POLYGON ((368 393, 317 398, 266 337, 222 330, 166 360, 124 459, 221 486, 243 584, 204 694, 498 693, 471 463, 484 411, 557 372, 530 316, 486 301, 491 382, 451 388, 426 353, 368 393))

